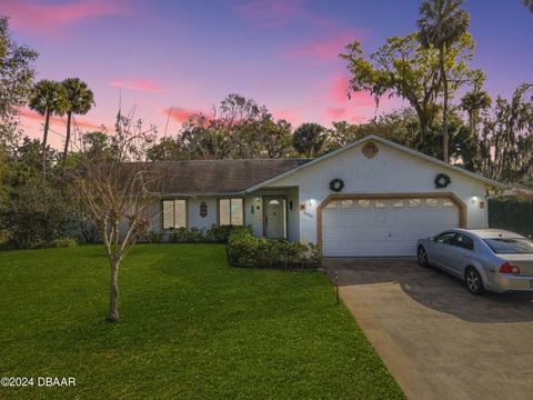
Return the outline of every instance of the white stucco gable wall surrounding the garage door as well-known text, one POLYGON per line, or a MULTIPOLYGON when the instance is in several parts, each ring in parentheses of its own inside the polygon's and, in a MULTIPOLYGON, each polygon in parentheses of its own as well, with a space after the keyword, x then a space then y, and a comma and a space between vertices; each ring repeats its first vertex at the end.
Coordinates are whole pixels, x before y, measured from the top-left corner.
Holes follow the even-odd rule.
POLYGON ((374 142, 379 152, 366 158, 361 149, 364 143, 348 149, 321 162, 289 174, 269 187, 299 187, 299 203, 305 211, 300 214, 300 240, 316 243, 316 207, 330 194, 329 182, 334 178, 344 181, 343 194, 356 193, 422 193, 453 192, 466 204, 469 229, 486 228, 486 192, 483 182, 457 173, 445 167, 423 160, 381 142, 374 142), (446 173, 452 183, 445 189, 435 189, 438 173, 446 173), (485 208, 480 209, 480 201, 485 208))

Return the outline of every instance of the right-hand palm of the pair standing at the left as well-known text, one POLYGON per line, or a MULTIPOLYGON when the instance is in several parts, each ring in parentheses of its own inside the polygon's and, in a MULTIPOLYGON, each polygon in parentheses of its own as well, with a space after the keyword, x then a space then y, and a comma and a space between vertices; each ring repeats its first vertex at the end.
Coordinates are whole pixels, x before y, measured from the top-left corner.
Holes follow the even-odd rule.
POLYGON ((73 114, 86 114, 94 104, 94 96, 87 83, 78 78, 68 78, 61 82, 67 91, 67 137, 64 138, 63 168, 70 144, 71 122, 73 114))

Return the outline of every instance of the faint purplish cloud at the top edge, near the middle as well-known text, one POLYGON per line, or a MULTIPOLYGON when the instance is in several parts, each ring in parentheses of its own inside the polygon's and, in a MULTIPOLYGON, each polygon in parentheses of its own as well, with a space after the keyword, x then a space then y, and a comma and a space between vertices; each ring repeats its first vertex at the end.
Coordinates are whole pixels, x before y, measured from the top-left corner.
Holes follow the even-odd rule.
POLYGON ((255 0, 240 2, 233 9, 257 28, 270 28, 289 23, 303 12, 303 0, 255 0))

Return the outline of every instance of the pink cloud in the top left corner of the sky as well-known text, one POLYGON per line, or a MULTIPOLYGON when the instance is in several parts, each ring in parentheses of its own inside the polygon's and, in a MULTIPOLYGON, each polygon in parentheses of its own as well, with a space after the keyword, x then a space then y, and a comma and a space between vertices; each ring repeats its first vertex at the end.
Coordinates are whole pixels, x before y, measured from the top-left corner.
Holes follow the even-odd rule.
POLYGON ((83 19, 125 12, 121 0, 78 0, 60 4, 42 4, 34 0, 2 0, 2 13, 11 17, 14 29, 58 33, 60 28, 83 19))

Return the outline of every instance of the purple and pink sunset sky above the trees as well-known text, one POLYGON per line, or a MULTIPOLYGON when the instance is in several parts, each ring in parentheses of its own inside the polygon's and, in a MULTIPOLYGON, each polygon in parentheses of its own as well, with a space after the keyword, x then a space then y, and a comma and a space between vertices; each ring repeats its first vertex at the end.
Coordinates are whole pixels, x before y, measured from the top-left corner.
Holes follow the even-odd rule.
MULTIPOLYGON (((97 107, 78 117, 83 130, 114 122, 137 104, 137 118, 174 134, 191 113, 209 112, 228 93, 264 104, 298 126, 365 121, 372 99, 348 100, 345 63, 336 56, 360 40, 374 51, 385 38, 415 29, 418 0, 0 0, 13 37, 36 49, 38 79, 78 77, 97 107)), ((477 42, 473 66, 495 98, 533 81, 533 14, 520 0, 469 0, 477 42)), ((383 102, 380 111, 401 106, 383 102)), ((23 110, 27 133, 41 118, 23 110)), ((64 131, 61 119, 53 130, 64 131)), ((61 138, 53 134, 52 143, 61 138)))

